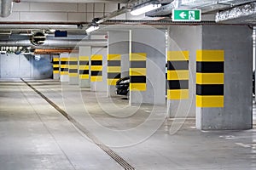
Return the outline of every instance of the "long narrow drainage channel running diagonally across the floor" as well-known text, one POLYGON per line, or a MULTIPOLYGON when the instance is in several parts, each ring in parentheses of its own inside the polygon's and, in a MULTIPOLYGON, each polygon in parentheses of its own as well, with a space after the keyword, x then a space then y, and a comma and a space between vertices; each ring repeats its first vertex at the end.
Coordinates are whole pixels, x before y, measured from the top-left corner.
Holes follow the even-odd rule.
POLYGON ((134 167, 132 167, 127 161, 125 161, 122 157, 120 157, 118 154, 116 154, 113 150, 111 150, 108 146, 105 144, 102 144, 101 141, 96 139, 96 137, 90 133, 83 125, 81 125, 79 122, 77 122, 75 119, 73 119, 72 116, 69 116, 66 111, 63 111, 58 105, 55 105, 54 102, 52 102, 50 99, 48 99, 44 94, 39 92, 36 88, 33 88, 31 84, 26 82, 24 79, 20 78, 22 82, 25 82, 26 85, 29 88, 32 88, 33 91, 35 91, 37 94, 39 94, 43 99, 45 99, 49 105, 52 105, 56 111, 59 111, 62 116, 65 116, 69 122, 72 122, 75 127, 77 127, 81 132, 83 132, 89 139, 91 139, 99 148, 101 148, 103 151, 105 151, 108 156, 111 156, 114 161, 119 163, 121 167, 124 167, 125 170, 135 170, 134 167))

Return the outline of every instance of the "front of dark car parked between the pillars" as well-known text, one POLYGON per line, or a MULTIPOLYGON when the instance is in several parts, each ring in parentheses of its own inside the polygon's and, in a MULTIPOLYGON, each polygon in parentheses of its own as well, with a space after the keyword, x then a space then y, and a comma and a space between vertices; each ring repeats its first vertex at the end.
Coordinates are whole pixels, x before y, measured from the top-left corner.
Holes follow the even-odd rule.
POLYGON ((129 84, 130 84, 130 77, 120 78, 116 82, 116 94, 125 95, 127 99, 129 99, 129 84))

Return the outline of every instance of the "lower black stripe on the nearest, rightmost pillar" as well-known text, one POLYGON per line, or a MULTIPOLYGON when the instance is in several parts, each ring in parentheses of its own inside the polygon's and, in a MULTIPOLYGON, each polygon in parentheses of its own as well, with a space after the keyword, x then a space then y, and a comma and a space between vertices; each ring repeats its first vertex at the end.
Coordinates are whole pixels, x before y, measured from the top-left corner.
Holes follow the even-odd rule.
POLYGON ((196 84, 197 95, 224 95, 224 84, 196 84))

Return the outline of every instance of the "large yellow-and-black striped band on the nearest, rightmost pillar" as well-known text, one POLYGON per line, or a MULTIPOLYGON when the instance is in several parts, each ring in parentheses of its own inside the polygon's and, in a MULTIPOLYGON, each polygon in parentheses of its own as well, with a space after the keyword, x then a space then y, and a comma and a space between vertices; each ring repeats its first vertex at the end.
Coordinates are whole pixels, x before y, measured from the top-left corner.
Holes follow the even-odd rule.
POLYGON ((224 107, 224 50, 196 52, 196 106, 224 107))

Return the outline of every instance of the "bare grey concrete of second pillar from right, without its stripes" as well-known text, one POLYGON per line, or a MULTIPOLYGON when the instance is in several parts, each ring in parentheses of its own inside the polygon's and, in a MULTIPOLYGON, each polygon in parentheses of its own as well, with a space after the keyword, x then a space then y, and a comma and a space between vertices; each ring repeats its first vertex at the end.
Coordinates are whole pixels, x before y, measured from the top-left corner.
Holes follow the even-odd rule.
POLYGON ((189 99, 169 100, 171 117, 195 117, 195 60, 201 49, 201 26, 170 26, 168 51, 189 51, 189 99))

